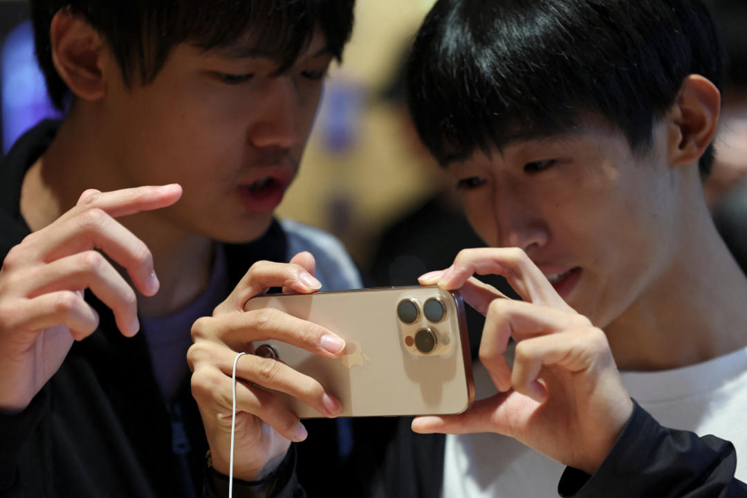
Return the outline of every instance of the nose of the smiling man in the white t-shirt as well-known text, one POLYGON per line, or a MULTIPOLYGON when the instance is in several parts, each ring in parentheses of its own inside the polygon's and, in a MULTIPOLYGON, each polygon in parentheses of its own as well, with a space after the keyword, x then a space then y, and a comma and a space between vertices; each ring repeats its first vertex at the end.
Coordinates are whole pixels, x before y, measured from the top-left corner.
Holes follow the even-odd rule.
POLYGON ((493 210, 499 247, 519 247, 530 254, 548 243, 550 234, 541 211, 519 190, 497 190, 493 210))

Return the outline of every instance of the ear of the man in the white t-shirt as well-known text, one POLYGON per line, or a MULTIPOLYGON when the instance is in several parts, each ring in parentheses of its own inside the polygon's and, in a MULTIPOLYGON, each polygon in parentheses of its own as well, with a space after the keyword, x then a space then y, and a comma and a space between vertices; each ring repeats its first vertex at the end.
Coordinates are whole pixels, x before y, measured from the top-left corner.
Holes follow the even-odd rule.
POLYGON ((691 164, 713 141, 719 124, 721 93, 701 75, 685 78, 669 112, 669 156, 672 166, 691 164))

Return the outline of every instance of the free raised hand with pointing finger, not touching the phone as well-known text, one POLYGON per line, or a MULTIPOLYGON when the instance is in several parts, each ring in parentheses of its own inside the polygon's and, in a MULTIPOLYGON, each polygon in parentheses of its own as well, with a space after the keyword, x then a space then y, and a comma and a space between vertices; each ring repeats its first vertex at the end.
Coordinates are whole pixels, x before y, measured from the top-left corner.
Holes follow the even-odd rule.
POLYGON ((99 317, 84 301, 84 289, 114 311, 123 334, 137 332, 134 290, 106 257, 146 296, 158 291, 158 278, 145 243, 116 218, 164 208, 180 196, 176 184, 86 190, 74 208, 10 249, 0 269, 1 411, 28 406, 73 340, 96 330, 99 317))

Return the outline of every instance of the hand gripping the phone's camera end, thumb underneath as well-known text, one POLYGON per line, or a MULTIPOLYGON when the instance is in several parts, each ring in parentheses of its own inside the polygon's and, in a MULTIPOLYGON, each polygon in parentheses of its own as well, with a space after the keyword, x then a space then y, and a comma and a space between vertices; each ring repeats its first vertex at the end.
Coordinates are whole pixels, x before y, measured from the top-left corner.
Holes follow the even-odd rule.
POLYGON ((600 329, 558 296, 521 249, 465 249, 421 284, 461 289, 486 316, 480 361, 500 393, 459 415, 418 417, 415 432, 497 432, 588 473, 601 464, 633 402, 600 329), (505 277, 523 301, 507 299, 473 275, 505 277), (516 341, 512 370, 504 353, 516 341))

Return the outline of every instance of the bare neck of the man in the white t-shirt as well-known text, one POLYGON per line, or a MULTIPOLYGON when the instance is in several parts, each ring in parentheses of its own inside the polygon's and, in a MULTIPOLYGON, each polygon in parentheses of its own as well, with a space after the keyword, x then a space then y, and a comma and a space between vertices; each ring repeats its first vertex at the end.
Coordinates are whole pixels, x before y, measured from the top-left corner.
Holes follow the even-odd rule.
POLYGON ((680 211, 687 226, 669 267, 604 327, 621 370, 684 367, 747 346, 747 278, 705 203, 695 204, 680 211))

